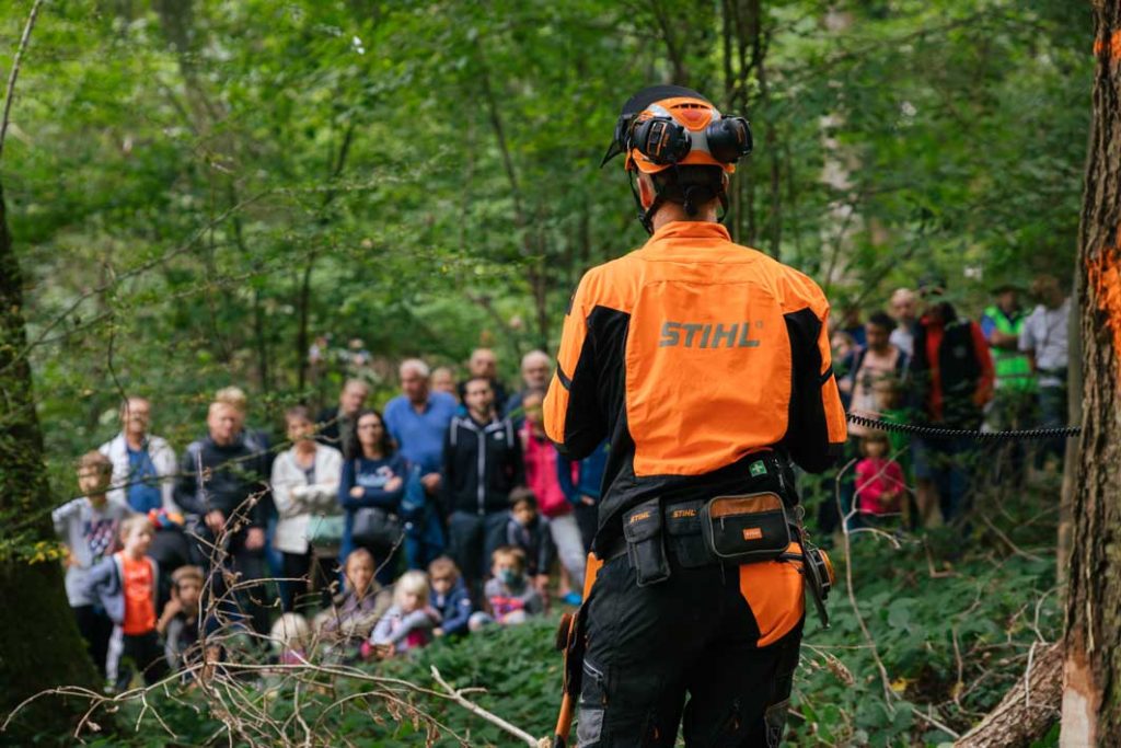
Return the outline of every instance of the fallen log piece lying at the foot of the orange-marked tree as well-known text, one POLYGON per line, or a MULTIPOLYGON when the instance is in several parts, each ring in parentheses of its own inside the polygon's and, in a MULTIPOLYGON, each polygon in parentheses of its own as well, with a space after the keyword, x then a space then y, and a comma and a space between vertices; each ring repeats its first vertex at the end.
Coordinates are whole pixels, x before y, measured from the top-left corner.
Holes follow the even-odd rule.
POLYGON ((954 748, 1027 748, 1055 723, 1062 699, 1063 645, 1037 646, 1023 677, 954 748))

